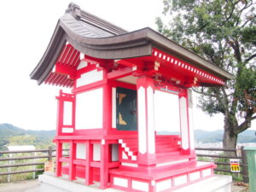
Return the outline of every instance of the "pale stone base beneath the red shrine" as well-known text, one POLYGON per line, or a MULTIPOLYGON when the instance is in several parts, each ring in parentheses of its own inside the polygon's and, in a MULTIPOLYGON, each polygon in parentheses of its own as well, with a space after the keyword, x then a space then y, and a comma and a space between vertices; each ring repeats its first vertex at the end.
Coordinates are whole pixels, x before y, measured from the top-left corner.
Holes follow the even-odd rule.
MULTIPOLYGON (((39 176, 41 182, 38 192, 120 192, 118 189, 98 189, 99 183, 84 185, 84 179, 68 181, 67 177, 55 177, 54 174, 44 173, 39 176)), ((201 182, 189 184, 175 192, 230 192, 232 177, 215 175, 201 182)))

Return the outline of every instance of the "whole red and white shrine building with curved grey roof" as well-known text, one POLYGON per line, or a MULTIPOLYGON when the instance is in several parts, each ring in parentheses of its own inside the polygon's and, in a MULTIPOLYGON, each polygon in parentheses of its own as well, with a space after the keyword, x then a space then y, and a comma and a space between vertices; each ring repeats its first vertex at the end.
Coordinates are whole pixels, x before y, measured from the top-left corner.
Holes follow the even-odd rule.
POLYGON ((211 177, 214 164, 196 161, 189 88, 231 77, 150 28, 126 32, 71 3, 31 73, 71 90, 56 96, 55 176, 125 191, 211 177))

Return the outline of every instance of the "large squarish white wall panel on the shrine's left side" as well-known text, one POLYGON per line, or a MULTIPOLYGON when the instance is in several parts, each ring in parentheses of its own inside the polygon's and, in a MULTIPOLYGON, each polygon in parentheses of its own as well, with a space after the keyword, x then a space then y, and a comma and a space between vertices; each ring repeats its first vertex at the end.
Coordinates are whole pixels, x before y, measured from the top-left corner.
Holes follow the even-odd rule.
POLYGON ((77 95, 76 130, 102 129, 102 88, 77 95))

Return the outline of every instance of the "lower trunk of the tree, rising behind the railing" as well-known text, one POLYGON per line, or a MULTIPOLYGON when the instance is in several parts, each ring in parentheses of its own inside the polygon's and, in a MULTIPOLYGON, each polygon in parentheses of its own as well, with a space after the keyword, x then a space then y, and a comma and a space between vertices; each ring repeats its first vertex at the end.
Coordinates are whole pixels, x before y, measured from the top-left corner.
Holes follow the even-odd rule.
MULTIPOLYGON (((236 148, 237 134, 234 133, 234 127, 230 123, 230 120, 225 117, 224 119, 224 136, 223 136, 223 148, 234 149, 236 148)), ((227 155, 236 155, 234 152, 227 152, 227 155)))

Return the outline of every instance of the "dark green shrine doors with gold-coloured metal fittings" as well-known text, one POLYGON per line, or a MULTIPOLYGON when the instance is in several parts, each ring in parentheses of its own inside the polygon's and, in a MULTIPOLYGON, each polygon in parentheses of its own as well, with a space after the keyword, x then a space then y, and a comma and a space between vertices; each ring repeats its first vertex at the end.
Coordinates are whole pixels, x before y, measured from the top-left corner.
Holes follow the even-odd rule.
POLYGON ((117 130, 137 131, 137 90, 116 89, 117 130))

